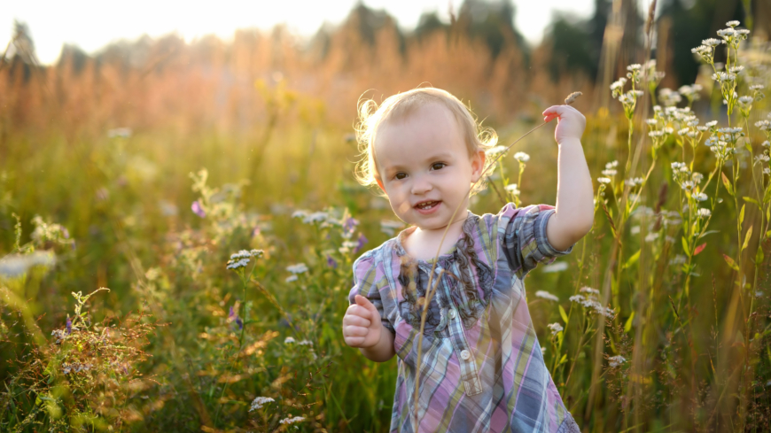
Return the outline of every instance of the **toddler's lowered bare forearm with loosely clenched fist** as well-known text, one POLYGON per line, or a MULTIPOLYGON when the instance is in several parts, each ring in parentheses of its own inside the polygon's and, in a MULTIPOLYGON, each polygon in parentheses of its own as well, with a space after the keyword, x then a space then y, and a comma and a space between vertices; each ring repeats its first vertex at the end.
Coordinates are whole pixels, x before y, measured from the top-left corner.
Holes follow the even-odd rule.
POLYGON ((343 337, 346 344, 358 347, 367 359, 385 362, 396 354, 393 333, 380 321, 380 314, 369 299, 356 295, 356 303, 348 306, 343 317, 343 337))

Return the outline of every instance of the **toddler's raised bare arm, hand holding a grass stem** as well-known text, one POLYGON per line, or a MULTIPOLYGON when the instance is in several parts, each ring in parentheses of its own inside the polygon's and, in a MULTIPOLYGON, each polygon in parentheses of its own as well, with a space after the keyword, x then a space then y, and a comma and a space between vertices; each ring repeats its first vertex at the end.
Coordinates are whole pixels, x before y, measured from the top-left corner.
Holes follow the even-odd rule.
POLYGON ((592 229, 594 189, 580 137, 587 120, 570 105, 555 105, 543 112, 545 121, 557 118, 554 138, 557 161, 557 205, 546 225, 546 236, 557 250, 565 250, 592 229))

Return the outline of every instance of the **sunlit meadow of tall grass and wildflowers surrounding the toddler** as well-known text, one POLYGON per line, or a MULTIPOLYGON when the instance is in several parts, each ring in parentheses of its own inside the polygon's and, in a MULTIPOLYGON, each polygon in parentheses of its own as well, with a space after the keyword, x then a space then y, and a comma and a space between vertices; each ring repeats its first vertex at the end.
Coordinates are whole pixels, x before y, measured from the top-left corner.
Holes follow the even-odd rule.
POLYGON ((731 21, 667 53, 650 19, 629 46, 611 17, 595 80, 471 26, 405 37, 362 7, 309 44, 170 35, 55 66, 19 36, 0 65, 0 431, 388 431, 396 360, 340 324, 354 259, 404 226, 354 180, 354 123, 360 97, 418 85, 500 137, 477 214, 555 204, 553 125, 504 148, 583 93, 595 224, 526 277, 582 431, 771 430, 767 37, 731 21), (667 56, 697 58, 696 81, 667 56))

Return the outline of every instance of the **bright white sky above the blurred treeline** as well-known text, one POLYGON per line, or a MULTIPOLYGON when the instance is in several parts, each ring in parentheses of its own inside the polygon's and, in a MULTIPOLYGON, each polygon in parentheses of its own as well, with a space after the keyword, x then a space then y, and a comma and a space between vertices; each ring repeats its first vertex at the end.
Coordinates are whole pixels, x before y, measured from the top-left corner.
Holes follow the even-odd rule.
MULTIPOLYGON (((297 35, 310 36, 324 22, 339 24, 357 0, 25 0, 0 6, 0 50, 11 40, 13 21, 27 23, 43 64, 55 63, 62 44, 75 44, 93 53, 108 43, 141 35, 156 37, 176 32, 190 42, 202 35, 229 40, 238 28, 269 29, 284 23, 297 35)), ((414 28, 423 12, 438 12, 449 20, 449 6, 457 11, 463 0, 364 0, 385 9, 405 30, 414 28)), ((588 17, 593 0, 513 0, 515 25, 531 43, 541 41, 553 13, 588 17)))

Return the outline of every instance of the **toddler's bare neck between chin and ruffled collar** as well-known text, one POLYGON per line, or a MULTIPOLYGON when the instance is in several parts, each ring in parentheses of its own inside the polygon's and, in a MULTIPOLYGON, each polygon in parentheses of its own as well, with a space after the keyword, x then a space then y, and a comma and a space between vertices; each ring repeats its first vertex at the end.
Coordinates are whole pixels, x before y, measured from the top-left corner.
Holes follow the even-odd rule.
POLYGON ((418 260, 432 260, 436 258, 436 252, 439 255, 447 254, 453 249, 456 241, 463 233, 463 222, 468 217, 468 210, 460 209, 457 212, 456 219, 447 226, 440 228, 420 228, 405 233, 402 239, 402 246, 410 257, 418 260), (444 236, 447 230, 447 236, 444 236), (444 236, 444 242, 442 242, 444 236), (441 244, 441 248, 440 248, 441 244))

